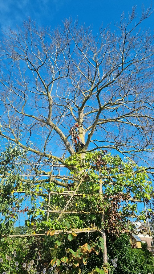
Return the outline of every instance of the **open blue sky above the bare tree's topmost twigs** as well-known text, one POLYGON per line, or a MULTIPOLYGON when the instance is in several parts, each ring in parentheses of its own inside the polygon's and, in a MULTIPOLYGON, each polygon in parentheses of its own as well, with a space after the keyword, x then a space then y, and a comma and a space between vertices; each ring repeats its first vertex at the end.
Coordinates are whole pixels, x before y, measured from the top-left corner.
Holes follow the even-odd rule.
MULTIPOLYGON (((142 4, 147 8, 151 3, 151 0, 0 0, 0 29, 22 26, 22 21, 29 16, 39 25, 54 28, 71 16, 73 21, 78 18, 79 23, 92 25, 97 32, 102 22, 104 26, 111 23, 114 29, 123 11, 128 15, 132 6, 137 6, 140 15, 142 4)), ((152 22, 154 14, 144 24, 152 29, 152 22)))

